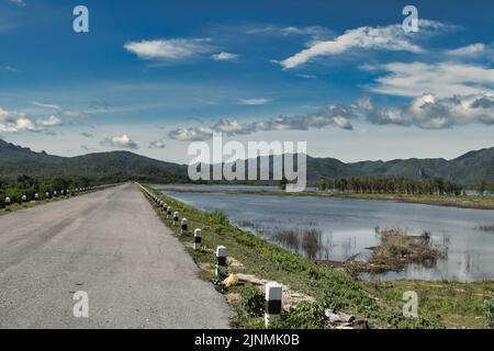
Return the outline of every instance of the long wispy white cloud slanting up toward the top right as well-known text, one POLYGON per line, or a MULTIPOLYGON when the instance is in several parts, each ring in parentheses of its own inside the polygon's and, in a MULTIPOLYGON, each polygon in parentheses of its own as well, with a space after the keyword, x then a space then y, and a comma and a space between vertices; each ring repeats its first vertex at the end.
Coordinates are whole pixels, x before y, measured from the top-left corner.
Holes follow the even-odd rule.
MULTIPOLYGON (((428 20, 419 21, 420 31, 426 34, 429 30, 439 30, 446 25, 428 20)), ((388 26, 361 26, 346 31, 343 35, 330 41, 315 41, 310 47, 280 61, 284 69, 304 65, 319 56, 340 55, 350 49, 385 49, 411 53, 422 53, 424 49, 413 44, 411 36, 403 31, 401 24, 388 26)))

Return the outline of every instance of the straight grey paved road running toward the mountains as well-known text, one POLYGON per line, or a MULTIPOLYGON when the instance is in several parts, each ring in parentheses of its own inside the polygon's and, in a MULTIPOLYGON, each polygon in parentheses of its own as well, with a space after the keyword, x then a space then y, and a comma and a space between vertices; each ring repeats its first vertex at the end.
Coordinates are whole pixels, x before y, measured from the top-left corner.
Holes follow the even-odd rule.
POLYGON ((134 184, 0 216, 0 328, 228 328, 197 272, 134 184))

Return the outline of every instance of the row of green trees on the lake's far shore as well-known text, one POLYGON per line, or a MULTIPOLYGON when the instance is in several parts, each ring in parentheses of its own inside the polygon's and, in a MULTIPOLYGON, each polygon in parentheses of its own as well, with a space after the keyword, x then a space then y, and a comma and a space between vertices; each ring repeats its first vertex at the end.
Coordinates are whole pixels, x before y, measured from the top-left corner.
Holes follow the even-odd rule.
POLYGON ((321 180, 321 190, 334 190, 351 193, 388 193, 388 194, 430 194, 430 195, 461 195, 462 185, 450 180, 434 178, 428 180, 413 180, 405 178, 349 178, 321 180))

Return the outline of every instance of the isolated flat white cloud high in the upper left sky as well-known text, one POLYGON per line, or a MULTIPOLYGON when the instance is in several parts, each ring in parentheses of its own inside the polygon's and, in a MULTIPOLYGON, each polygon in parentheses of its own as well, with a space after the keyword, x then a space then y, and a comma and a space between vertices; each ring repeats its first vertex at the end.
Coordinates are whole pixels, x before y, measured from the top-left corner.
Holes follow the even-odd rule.
POLYGON ((162 61, 191 59, 210 54, 214 49, 210 38, 127 42, 124 48, 139 58, 162 61))

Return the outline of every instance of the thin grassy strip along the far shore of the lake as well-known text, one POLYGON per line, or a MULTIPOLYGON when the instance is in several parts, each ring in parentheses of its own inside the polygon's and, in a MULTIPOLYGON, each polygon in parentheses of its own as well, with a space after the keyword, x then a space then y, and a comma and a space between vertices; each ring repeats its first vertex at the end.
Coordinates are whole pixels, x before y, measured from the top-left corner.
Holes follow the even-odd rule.
POLYGON ((450 206, 460 208, 482 208, 494 210, 494 196, 447 196, 429 194, 366 194, 366 193, 330 193, 304 191, 299 193, 288 193, 284 191, 262 191, 262 190, 194 190, 194 189, 167 189, 173 192, 194 192, 194 193, 225 193, 225 194, 251 194, 251 195, 280 195, 280 196, 317 196, 317 197, 344 197, 362 200, 382 200, 403 203, 415 203, 435 206, 450 206))

